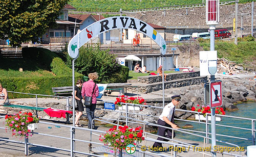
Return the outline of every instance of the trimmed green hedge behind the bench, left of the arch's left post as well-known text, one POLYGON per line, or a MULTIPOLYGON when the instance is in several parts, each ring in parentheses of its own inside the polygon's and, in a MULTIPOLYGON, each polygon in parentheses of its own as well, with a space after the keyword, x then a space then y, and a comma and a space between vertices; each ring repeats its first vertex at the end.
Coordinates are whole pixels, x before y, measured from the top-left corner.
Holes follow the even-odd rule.
MULTIPOLYGON (((53 95, 52 87, 72 86, 72 69, 52 51, 44 48, 23 48, 23 57, 27 62, 36 61, 51 70, 55 76, 1 77, 0 82, 8 91, 53 95)), ((15 63, 14 63, 15 64, 15 63)), ((33 64, 31 64, 33 66, 33 64)), ((19 72, 17 70, 17 72, 19 72)), ((82 74, 75 72, 75 80, 82 74)), ((28 94, 8 93, 9 98, 35 97, 28 94)))

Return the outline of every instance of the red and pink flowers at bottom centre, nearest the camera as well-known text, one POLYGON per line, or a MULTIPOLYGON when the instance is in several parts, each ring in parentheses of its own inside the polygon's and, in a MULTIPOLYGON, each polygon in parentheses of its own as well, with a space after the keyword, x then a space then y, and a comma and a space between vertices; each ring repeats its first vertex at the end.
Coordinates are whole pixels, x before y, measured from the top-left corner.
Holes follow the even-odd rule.
POLYGON ((129 128, 128 126, 113 126, 106 134, 100 136, 99 140, 105 145, 112 147, 112 149, 122 150, 125 149, 127 144, 134 144, 134 141, 142 141, 145 138, 142 136, 143 130, 141 127, 129 128))

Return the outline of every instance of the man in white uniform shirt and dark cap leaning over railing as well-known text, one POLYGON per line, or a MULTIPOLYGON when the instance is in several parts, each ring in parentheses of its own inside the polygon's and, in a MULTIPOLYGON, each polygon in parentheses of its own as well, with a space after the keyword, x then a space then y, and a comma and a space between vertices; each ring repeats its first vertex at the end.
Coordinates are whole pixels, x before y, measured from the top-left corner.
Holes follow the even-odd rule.
MULTIPOLYGON (((175 111, 175 106, 177 106, 180 102, 180 95, 174 95, 174 96, 172 96, 172 98, 173 98, 172 102, 168 103, 164 107, 162 114, 159 116, 157 124, 178 129, 178 126, 176 124, 174 124, 174 111, 175 111)), ((173 132, 172 129, 168 129, 168 128, 164 128, 164 127, 160 127, 160 126, 158 127, 158 135, 159 136, 163 136, 163 137, 172 139, 172 135, 173 135, 172 132, 173 132), (167 135, 165 135, 166 133, 167 133, 167 135)), ((174 133, 173 137, 175 137, 175 133, 174 133)), ((169 141, 169 140, 163 139, 161 137, 158 137, 157 140, 169 141)), ((159 149, 159 147, 162 147, 162 143, 155 142, 153 145, 153 148, 154 147, 157 147, 159 149)))

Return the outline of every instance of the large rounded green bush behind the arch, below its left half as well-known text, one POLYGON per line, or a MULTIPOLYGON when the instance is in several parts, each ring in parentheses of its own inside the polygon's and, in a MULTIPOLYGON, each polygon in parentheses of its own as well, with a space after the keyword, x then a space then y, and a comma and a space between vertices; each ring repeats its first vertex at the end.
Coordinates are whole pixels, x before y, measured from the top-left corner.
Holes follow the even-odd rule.
MULTIPOLYGON (((72 58, 66 53, 66 64, 72 67, 72 58)), ((129 68, 119 65, 116 55, 109 50, 100 50, 99 46, 81 47, 79 57, 75 61, 75 71, 88 75, 98 72, 100 83, 126 82, 129 68)))

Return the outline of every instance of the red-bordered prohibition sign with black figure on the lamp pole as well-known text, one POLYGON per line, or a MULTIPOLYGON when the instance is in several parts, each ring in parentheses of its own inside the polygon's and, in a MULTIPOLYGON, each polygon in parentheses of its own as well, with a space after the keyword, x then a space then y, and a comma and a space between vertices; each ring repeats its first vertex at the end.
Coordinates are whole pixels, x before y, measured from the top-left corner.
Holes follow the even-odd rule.
POLYGON ((222 83, 221 81, 210 82, 210 108, 222 106, 222 83))

